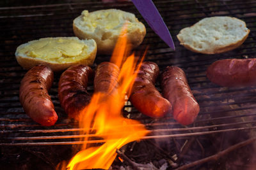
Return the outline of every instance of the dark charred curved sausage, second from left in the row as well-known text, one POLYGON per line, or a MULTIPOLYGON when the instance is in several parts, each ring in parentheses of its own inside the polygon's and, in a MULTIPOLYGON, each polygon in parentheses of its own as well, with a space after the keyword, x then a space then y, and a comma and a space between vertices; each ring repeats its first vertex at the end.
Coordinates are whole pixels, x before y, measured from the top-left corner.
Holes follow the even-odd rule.
POLYGON ((90 103, 92 96, 87 92, 87 85, 92 77, 93 70, 83 64, 68 67, 61 74, 58 97, 68 117, 79 120, 80 111, 90 103))

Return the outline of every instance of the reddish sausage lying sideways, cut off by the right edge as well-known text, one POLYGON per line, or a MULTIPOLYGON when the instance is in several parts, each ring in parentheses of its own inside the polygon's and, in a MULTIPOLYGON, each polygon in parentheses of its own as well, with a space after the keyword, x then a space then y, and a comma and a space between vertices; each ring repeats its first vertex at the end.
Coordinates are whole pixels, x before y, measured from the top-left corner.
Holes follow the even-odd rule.
POLYGON ((225 59, 207 68, 207 78, 223 87, 256 85, 256 59, 225 59))

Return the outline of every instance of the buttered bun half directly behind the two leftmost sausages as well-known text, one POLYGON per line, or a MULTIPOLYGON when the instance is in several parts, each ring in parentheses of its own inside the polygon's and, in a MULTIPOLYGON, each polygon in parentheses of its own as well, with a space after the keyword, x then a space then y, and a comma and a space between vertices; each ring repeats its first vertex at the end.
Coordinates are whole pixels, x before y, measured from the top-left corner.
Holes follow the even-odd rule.
POLYGON ((24 69, 45 64, 53 71, 62 71, 75 64, 92 66, 97 53, 93 39, 77 37, 41 38, 17 47, 15 56, 24 69))

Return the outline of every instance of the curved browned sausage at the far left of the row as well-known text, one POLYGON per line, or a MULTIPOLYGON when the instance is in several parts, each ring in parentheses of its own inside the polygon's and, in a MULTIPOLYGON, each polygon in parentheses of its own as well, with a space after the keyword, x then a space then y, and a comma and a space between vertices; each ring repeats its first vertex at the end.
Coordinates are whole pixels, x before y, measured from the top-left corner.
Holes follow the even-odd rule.
POLYGON ((51 126, 58 120, 48 91, 51 89, 53 72, 50 67, 32 67, 20 82, 20 104, 35 122, 51 126))

